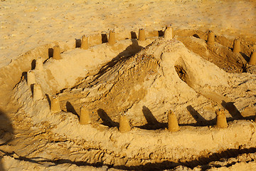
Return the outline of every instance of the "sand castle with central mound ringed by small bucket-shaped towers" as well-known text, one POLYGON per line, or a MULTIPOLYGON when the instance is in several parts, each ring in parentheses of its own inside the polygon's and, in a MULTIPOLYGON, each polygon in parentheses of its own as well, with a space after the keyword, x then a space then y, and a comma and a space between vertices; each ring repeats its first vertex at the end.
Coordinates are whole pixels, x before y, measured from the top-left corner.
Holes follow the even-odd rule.
MULTIPOLYGON (((22 88, 22 81, 16 86, 14 99, 19 104, 23 104, 22 99, 28 99, 28 103, 21 105, 21 108, 35 124, 43 124, 42 120, 47 120, 50 125, 54 125, 51 128, 53 133, 83 145, 83 150, 87 147, 97 149, 96 153, 93 153, 95 150, 86 151, 91 156, 103 156, 90 158, 92 163, 100 160, 106 165, 140 168, 138 165, 142 158, 146 159, 146 164, 161 162, 163 156, 168 162, 185 163, 193 161, 193 156, 208 156, 210 152, 235 149, 238 145, 252 147, 254 141, 251 140, 251 130, 254 126, 250 125, 250 121, 238 120, 235 123, 228 114, 227 117, 231 118, 228 126, 225 113, 220 110, 216 111, 216 127, 226 129, 205 126, 210 125, 210 119, 215 118, 216 107, 213 103, 226 100, 223 92, 231 94, 228 90, 230 82, 233 82, 229 77, 233 75, 191 53, 178 41, 178 38, 182 38, 178 36, 178 32, 173 38, 172 31, 172 28, 166 28, 164 37, 154 38, 146 35, 143 38, 144 33, 139 33, 138 41, 117 41, 114 32, 110 31, 110 46, 90 46, 90 52, 71 49, 67 53, 63 52, 65 58, 48 60, 44 64, 42 58, 38 58, 35 70, 29 71, 27 75, 28 85, 33 85, 34 102, 28 98, 31 89, 22 88), (114 48, 114 44, 119 48, 114 48), (107 53, 110 49, 111 53, 107 53), (103 57, 99 55, 102 51, 106 52, 103 57), (94 65, 90 66, 92 61, 94 65), (43 93, 53 96, 50 110, 43 93), (84 104, 82 107, 81 103, 84 104), (65 111, 67 104, 70 104, 69 108, 72 110, 65 111), (191 108, 196 109, 188 110, 188 105, 193 105, 191 108), (146 110, 142 110, 142 106, 146 110), (170 108, 175 108, 177 117, 170 108), (119 114, 123 111, 129 112, 130 120, 127 115, 119 114), (200 119, 204 119, 204 125, 197 127, 200 119), (178 122, 182 125, 181 129, 178 122), (238 135, 237 138, 231 136, 233 131, 241 128, 245 134, 238 135), (194 143, 183 141, 186 138, 194 143), (146 148, 141 143, 144 141, 148 142, 146 148), (165 147, 166 152, 161 147, 165 147), (176 155, 169 155, 167 151, 176 155), (104 157, 113 160, 105 160, 104 157)), ((215 46, 223 48, 218 45, 218 38, 214 40, 214 37, 208 35, 206 41, 190 36, 184 42, 200 42, 199 46, 206 50, 213 38, 215 46)), ((84 38, 85 45, 87 38, 89 36, 84 38)), ((86 46, 83 48, 81 45, 81 48, 89 48, 88 44, 86 46)), ((209 48, 207 51, 215 49, 209 48)), ((226 54, 230 55, 228 50, 226 54)), ((231 57, 230 60, 237 59, 231 57)))

